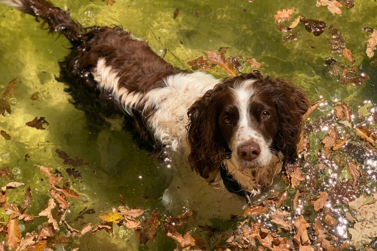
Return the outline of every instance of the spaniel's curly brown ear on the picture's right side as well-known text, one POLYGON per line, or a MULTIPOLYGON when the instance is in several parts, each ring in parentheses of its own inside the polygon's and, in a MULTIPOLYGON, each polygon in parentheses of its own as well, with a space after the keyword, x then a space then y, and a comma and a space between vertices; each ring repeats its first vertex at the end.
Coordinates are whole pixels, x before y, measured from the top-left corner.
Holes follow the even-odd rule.
POLYGON ((310 102, 302 90, 284 79, 265 81, 275 86, 273 101, 280 114, 280 130, 276 147, 283 153, 285 162, 293 162, 297 157, 297 144, 302 132, 302 116, 310 107, 310 102))

